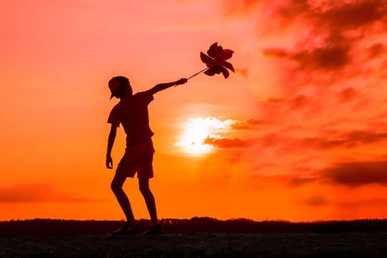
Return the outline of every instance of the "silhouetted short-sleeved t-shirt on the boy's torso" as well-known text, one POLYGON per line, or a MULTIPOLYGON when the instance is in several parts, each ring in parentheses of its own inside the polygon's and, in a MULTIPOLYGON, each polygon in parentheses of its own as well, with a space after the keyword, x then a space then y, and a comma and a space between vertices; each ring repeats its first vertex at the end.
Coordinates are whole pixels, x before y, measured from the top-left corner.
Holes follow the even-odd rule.
POLYGON ((130 98, 120 100, 111 110, 108 123, 122 124, 126 134, 126 147, 150 139, 154 133, 149 127, 148 105, 153 100, 149 91, 138 92, 130 98))

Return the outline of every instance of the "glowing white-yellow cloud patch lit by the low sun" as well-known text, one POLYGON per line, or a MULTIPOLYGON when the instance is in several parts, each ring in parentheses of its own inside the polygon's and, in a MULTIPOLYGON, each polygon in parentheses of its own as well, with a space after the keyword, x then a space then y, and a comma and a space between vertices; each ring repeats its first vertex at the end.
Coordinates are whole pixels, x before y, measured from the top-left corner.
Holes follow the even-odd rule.
POLYGON ((184 135, 174 146, 184 147, 190 153, 210 152, 215 147, 205 144, 205 139, 208 137, 222 138, 219 133, 227 132, 234 122, 232 119, 221 121, 211 116, 207 118, 189 118, 184 135))

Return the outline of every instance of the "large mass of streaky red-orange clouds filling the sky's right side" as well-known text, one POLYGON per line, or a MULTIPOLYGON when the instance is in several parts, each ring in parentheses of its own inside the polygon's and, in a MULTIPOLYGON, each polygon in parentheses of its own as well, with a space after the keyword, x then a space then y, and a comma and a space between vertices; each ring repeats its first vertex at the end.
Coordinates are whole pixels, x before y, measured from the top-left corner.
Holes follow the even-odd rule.
MULTIPOLYGON (((288 175, 300 189, 344 187, 350 195, 358 188, 362 196, 363 186, 379 185, 385 191, 387 2, 232 3, 225 7, 228 19, 255 22, 262 56, 252 60, 249 75, 267 66, 274 72, 265 76, 276 78, 267 86, 250 76, 259 96, 255 117, 270 125, 256 131, 240 159, 254 164, 251 171, 260 168, 255 173, 288 175), (263 88, 271 94, 262 96, 263 88), (260 166, 274 157, 269 168, 260 166)), ((305 204, 385 207, 329 199, 314 195, 305 204)))

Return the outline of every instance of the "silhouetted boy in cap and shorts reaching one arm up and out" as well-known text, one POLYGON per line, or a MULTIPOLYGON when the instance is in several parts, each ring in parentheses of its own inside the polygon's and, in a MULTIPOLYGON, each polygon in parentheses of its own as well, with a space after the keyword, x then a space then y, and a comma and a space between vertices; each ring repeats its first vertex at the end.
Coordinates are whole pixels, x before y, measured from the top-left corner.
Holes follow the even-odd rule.
POLYGON ((186 82, 187 79, 181 78, 176 82, 157 84, 150 90, 138 92, 134 95, 130 82, 126 77, 116 76, 110 79, 108 83, 111 92, 110 99, 116 97, 120 101, 112 108, 107 120, 108 123, 111 123, 106 153, 107 168, 113 168, 111 149, 120 123, 126 134, 125 153, 118 163, 111 182, 111 189, 125 214, 126 223, 121 229, 114 231, 113 234, 138 234, 140 232, 131 204, 122 190, 126 177, 133 178, 136 172, 139 178, 140 191, 144 196, 151 217, 150 227, 144 234, 162 233, 162 228, 157 221, 155 199, 149 189, 149 178, 153 177, 154 148, 152 136, 154 133, 149 127, 148 105, 157 92, 186 82))

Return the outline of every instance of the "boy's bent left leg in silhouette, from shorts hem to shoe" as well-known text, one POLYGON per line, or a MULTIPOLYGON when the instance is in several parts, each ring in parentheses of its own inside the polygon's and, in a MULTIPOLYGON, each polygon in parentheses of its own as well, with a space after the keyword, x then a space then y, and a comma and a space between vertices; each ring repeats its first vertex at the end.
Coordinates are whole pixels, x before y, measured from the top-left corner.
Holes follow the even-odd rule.
POLYGON ((123 213, 125 214, 126 221, 130 224, 135 224, 135 217, 133 216, 131 203, 129 202, 129 199, 127 199, 127 196, 125 195, 125 192, 122 189, 122 185, 125 182, 126 177, 118 176, 118 173, 114 175, 113 180, 111 181, 111 189, 117 198, 117 201, 119 205, 121 206, 121 209, 123 213))

